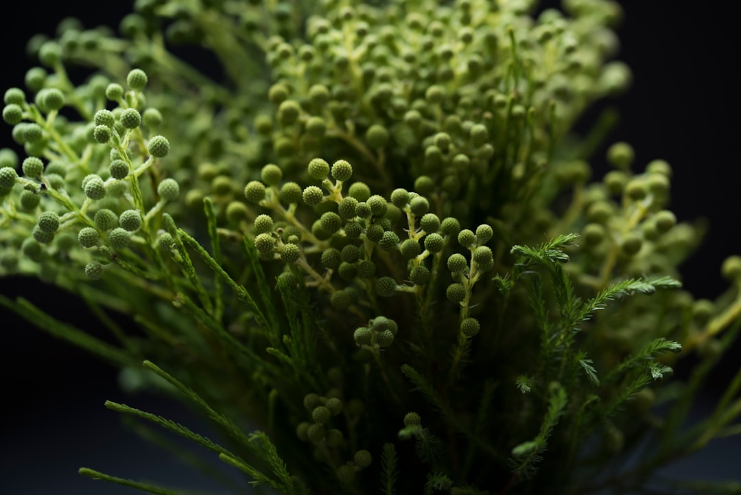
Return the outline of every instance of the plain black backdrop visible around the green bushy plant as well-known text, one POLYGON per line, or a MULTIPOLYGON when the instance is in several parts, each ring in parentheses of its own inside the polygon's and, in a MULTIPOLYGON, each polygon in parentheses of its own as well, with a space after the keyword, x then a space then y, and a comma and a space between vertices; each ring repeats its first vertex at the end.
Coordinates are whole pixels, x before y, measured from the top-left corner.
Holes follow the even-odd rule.
MULTIPOLYGON (((699 7, 699 2, 690 3, 697 5, 694 8, 673 0, 620 3, 625 21, 619 29, 622 49, 618 58, 633 69, 634 84, 625 96, 608 102, 619 108, 622 117, 610 140, 633 144, 638 164, 666 159, 674 167, 671 209, 680 220, 709 220, 705 242, 682 271, 685 288, 696 296, 714 298, 726 285, 720 277, 722 260, 741 253, 736 18, 720 9, 699 7)), ((25 70, 36 64, 24 57, 25 43, 33 34, 53 34, 59 20, 70 14, 79 16, 86 27, 116 27, 117 20, 130 10, 124 1, 41 4, 14 2, 15 13, 4 11, 4 29, 0 30, 3 91, 22 87, 25 70)), ((585 125, 594 113, 588 114, 585 125)), ((0 131, 0 147, 13 145, 10 127, 0 131)), ((0 279, 0 292, 26 296, 56 316, 90 328, 73 297, 39 282, 0 279)), ((191 424, 192 417, 162 399, 125 396, 117 388, 112 368, 1 311, 0 492, 133 493, 82 478, 76 474, 80 465, 124 477, 191 488, 198 485, 199 476, 137 442, 120 426, 116 413, 102 404, 105 399, 127 402, 191 424)), ((92 327, 90 331, 98 330, 92 327)), ((724 360, 722 370, 714 375, 709 397, 738 369, 738 355, 736 351, 724 360)), ((738 456, 728 459, 728 449, 738 454, 740 447, 739 442, 717 442, 710 454, 689 459, 673 473, 738 478, 732 460, 738 456)))

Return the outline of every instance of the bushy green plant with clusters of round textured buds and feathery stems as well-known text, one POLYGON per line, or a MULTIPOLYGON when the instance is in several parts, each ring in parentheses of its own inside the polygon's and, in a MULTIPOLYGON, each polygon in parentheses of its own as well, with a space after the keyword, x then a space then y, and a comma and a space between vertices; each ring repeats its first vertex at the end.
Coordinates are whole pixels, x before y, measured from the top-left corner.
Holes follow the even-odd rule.
POLYGON ((666 209, 671 167, 635 170, 617 143, 591 182, 604 129, 570 130, 630 80, 610 62, 619 5, 533 9, 139 1, 120 39, 65 21, 5 93, 28 158, 19 176, 1 156, 1 266, 76 290, 120 345, 0 302, 159 376, 144 382, 190 399, 225 447, 107 407, 276 493, 642 486, 738 430, 739 375, 681 427, 737 335, 741 262, 722 267, 728 293, 694 301, 676 279, 698 232, 666 209), (225 82, 179 43, 212 50, 225 82), (73 64, 93 74, 73 84, 73 64), (671 388, 680 350, 702 360, 671 388), (595 477, 648 435, 638 468, 595 477))

